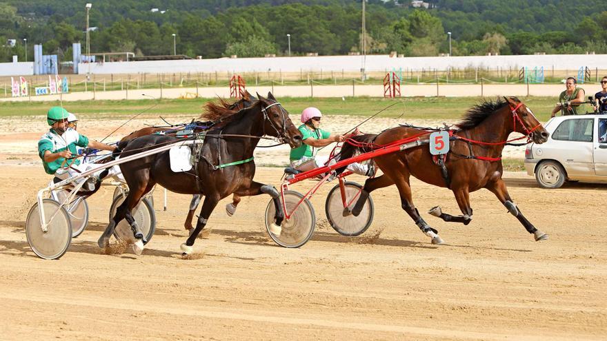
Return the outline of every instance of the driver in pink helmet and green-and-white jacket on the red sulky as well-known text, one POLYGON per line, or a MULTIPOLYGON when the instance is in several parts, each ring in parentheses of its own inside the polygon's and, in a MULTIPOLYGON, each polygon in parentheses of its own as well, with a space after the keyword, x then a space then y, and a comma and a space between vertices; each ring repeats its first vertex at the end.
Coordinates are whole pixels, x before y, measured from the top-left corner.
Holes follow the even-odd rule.
MULTIPOLYGON (((301 171, 307 171, 317 167, 322 167, 328 163, 328 156, 317 155, 317 148, 325 147, 331 143, 343 142, 348 136, 341 134, 331 134, 330 132, 321 129, 320 121, 322 113, 315 107, 306 107, 301 112, 301 123, 299 132, 303 135, 304 143, 297 148, 291 149, 290 161, 291 167, 301 171)), ((331 163, 337 162, 336 159, 331 160, 331 163)), ((348 170, 365 176, 375 174, 375 168, 369 167, 361 163, 351 163, 347 167, 348 170)))

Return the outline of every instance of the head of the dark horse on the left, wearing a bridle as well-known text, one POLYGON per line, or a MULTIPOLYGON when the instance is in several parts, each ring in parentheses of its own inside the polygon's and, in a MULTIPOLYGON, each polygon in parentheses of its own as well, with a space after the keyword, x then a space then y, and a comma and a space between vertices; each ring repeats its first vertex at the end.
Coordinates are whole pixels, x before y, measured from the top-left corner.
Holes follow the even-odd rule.
POLYGON ((297 148, 301 145, 301 132, 295 127, 289 118, 289 113, 275 99, 271 92, 268 92, 268 98, 259 96, 259 105, 263 112, 263 134, 275 136, 283 143, 288 143, 291 148, 297 148))

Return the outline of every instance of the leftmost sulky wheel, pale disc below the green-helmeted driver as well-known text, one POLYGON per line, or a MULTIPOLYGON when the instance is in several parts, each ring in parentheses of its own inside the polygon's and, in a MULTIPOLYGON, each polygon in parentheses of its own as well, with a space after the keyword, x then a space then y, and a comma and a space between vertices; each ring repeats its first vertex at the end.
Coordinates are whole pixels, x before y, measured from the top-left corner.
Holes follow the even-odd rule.
POLYGON ((72 242, 72 223, 68 211, 52 199, 42 200, 47 231, 42 231, 40 209, 35 203, 26 219, 28 244, 40 258, 57 259, 68 251, 72 242))

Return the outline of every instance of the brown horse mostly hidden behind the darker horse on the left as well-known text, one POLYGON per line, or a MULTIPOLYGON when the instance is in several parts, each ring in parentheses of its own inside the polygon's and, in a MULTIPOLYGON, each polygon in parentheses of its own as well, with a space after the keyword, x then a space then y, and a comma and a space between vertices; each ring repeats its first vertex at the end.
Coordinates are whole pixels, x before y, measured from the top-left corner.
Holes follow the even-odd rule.
MULTIPOLYGON (((249 105, 252 105, 252 103, 254 103, 255 101, 257 101, 257 98, 255 96, 253 96, 252 94, 250 94, 248 91, 245 91, 245 93, 242 95, 242 98, 239 99, 238 101, 235 101, 234 103, 228 103, 220 98, 219 105, 216 105, 215 103, 207 103, 204 106, 206 109, 206 112, 207 112, 206 116, 205 117, 201 116, 197 119, 208 118, 211 122, 220 121, 222 118, 221 116, 223 115, 223 112, 222 112, 223 109, 238 111, 245 107, 248 107, 249 105)), ((197 125, 197 126, 206 127, 206 125, 203 123, 201 125, 197 125)), ((157 132, 163 132, 164 134, 174 136, 178 131, 183 130, 185 127, 186 127, 185 124, 177 125, 177 127, 145 127, 145 128, 141 128, 140 130, 135 130, 135 132, 132 132, 132 133, 128 134, 127 136, 124 136, 123 138, 121 138, 120 143, 121 143, 121 145, 124 145, 125 143, 128 143, 128 141, 132 141, 135 138, 155 134, 157 132)), ((201 130, 195 130, 195 132, 200 132, 200 131, 201 130)), ((190 210, 188 211, 188 216, 186 217, 186 221, 183 223, 183 227, 185 227, 186 230, 188 230, 190 232, 192 232, 194 230, 194 227, 192 227, 192 219, 194 218, 194 214, 196 213, 196 209, 200 203, 200 199, 201 199, 200 194, 194 194, 194 196, 192 196, 192 200, 190 201, 190 210)), ((241 200, 241 198, 239 196, 237 196, 237 194, 234 194, 232 196, 232 203, 226 204, 226 212, 227 212, 228 216, 232 216, 235 213, 236 208, 237 208, 238 204, 240 203, 240 200, 241 200)))

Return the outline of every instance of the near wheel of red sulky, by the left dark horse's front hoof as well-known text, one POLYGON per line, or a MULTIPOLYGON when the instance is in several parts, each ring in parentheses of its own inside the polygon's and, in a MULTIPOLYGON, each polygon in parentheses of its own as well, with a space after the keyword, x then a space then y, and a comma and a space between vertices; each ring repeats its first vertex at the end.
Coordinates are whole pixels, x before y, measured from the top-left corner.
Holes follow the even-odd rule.
MULTIPOLYGON (((268 229, 270 238, 281 247, 300 247, 301 245, 306 244, 314 234, 314 228, 316 226, 314 207, 312 207, 312 204, 310 204, 308 199, 304 199, 297 209, 295 209, 295 206, 299 203, 301 198, 304 198, 304 195, 295 191, 285 191, 283 195, 286 211, 290 214, 290 218, 285 218, 285 220, 283 220, 281 233, 279 235, 273 234, 270 231, 270 224, 275 222, 274 216, 276 208, 274 206, 274 201, 270 200, 270 203, 268 203, 268 207, 266 208, 266 229, 268 229), (293 211, 293 209, 295 209, 295 211, 293 211)), ((285 216, 287 212, 285 212, 285 216)))

